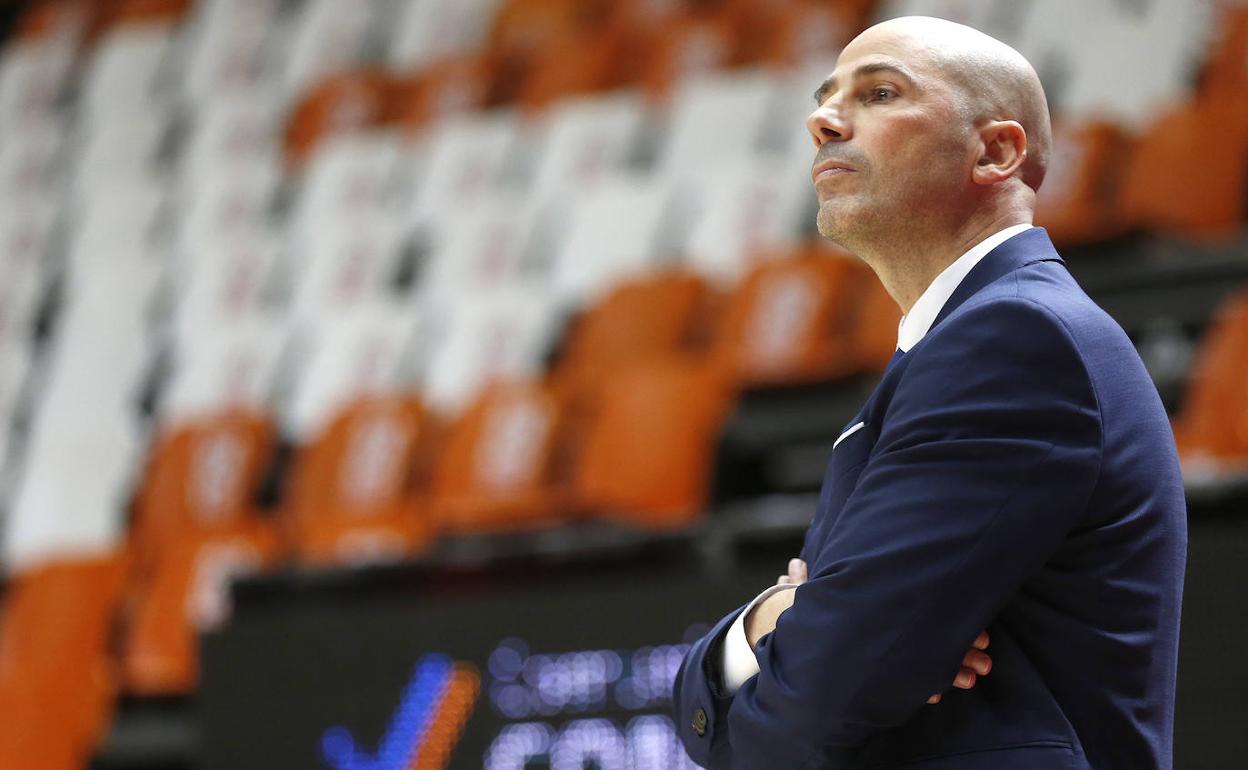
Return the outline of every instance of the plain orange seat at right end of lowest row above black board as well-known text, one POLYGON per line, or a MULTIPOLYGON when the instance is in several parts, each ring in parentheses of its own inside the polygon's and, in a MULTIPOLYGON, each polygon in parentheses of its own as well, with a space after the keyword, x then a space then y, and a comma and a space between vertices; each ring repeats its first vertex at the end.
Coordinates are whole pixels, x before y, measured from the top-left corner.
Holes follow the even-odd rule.
POLYGON ((578 443, 578 512, 643 528, 686 527, 706 509, 730 389, 695 357, 619 366, 595 388, 578 443))

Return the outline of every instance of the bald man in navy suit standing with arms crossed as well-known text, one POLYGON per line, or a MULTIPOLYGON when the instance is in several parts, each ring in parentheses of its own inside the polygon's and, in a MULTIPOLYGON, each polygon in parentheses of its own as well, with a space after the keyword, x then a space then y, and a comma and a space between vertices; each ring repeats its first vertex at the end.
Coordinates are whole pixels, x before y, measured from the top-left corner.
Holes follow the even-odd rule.
POLYGON ((1040 80, 997 40, 910 17, 851 41, 815 100, 820 232, 905 314, 801 559, 685 658, 689 755, 1171 768, 1183 485, 1129 339, 1031 225, 1040 80))

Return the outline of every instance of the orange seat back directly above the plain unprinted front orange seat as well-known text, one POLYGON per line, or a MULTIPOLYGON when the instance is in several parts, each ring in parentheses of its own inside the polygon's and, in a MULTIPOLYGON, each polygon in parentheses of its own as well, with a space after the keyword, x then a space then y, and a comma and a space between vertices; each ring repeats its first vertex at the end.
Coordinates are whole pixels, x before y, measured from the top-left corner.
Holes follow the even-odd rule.
POLYGON ((693 351, 709 334, 713 305, 706 282, 684 271, 617 283, 573 324, 560 378, 592 387, 630 362, 693 351))

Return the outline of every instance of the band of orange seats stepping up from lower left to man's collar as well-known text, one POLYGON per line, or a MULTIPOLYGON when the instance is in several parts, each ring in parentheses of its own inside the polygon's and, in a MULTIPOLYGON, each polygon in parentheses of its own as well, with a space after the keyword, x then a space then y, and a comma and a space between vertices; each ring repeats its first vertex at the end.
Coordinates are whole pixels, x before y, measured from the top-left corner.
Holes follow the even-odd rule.
POLYGON ((180 426, 157 442, 131 530, 152 583, 130 681, 190 686, 190 629, 171 650, 170 618, 200 580, 188 565, 203 560, 352 565, 412 558, 438 537, 585 517, 689 527, 706 510, 735 392, 876 372, 897 316, 866 268, 817 246, 769 261, 723 298, 690 272, 625 282, 578 319, 547 376, 495 383, 449 424, 409 394, 349 403, 297 449, 276 520, 253 510, 271 419, 180 426))

